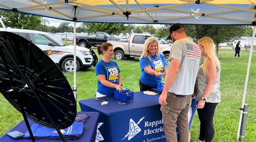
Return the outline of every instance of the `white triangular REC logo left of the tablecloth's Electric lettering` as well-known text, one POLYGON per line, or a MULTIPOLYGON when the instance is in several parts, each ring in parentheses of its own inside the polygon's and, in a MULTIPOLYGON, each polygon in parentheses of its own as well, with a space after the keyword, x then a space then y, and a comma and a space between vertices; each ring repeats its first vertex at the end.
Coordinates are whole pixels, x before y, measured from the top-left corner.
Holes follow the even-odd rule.
MULTIPOLYGON (((124 136, 123 139, 125 139, 126 137, 128 137, 128 140, 132 139, 134 136, 136 136, 136 134, 138 134, 140 131, 142 131, 142 129, 140 129, 140 127, 138 126, 140 124, 140 122, 144 119, 140 118, 138 123, 135 123, 134 120, 130 119, 130 125, 129 125, 129 132, 124 136)), ((122 139, 122 140, 123 140, 122 139)))

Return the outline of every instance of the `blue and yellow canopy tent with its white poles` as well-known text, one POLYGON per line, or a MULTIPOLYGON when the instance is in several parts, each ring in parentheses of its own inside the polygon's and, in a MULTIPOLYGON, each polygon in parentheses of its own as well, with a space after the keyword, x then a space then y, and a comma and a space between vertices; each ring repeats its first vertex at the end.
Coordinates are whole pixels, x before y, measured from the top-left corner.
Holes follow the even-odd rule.
MULTIPOLYGON (((73 21, 75 38, 76 22, 253 25, 238 138, 255 37, 255 5, 255 0, 0 0, 0 9, 3 10, 73 21)), ((76 40, 74 63, 76 63, 75 57, 76 40)), ((74 70, 74 94, 76 96, 76 70, 74 70)))

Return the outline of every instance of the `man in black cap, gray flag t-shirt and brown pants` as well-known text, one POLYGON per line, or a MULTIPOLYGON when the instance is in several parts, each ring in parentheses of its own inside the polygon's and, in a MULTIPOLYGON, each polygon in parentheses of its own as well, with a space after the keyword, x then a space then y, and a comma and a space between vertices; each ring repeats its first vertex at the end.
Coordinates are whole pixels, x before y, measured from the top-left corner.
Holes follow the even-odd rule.
POLYGON ((201 51, 186 36, 185 26, 180 23, 170 27, 173 40, 165 86, 159 97, 163 115, 166 141, 177 141, 176 126, 181 142, 188 141, 187 112, 194 91, 201 51))

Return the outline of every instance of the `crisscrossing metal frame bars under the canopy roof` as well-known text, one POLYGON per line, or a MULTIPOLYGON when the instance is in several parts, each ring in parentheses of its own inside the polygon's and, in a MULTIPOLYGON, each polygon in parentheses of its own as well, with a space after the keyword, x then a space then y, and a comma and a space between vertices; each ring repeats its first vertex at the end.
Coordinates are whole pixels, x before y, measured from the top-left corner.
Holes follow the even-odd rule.
MULTIPOLYGON (((173 5, 167 5, 167 6, 160 6, 160 7, 151 7, 151 8, 143 8, 142 4, 140 4, 137 0, 134 0, 139 5, 140 9, 135 9, 135 10, 131 10, 131 11, 129 11, 129 0, 126 0, 125 10, 122 9, 122 7, 119 6, 116 2, 114 2, 114 0, 110 0, 110 2, 113 5, 115 5, 119 10, 102 8, 100 6, 78 3, 76 1, 77 0, 70 0, 69 3, 73 4, 74 6, 79 6, 79 9, 85 9, 85 10, 91 10, 91 11, 97 11, 97 12, 102 12, 103 13, 103 14, 100 14, 100 15, 78 17, 77 19, 86 19, 86 18, 109 16, 109 15, 119 15, 119 16, 124 16, 124 17, 126 16, 127 18, 131 17, 131 18, 141 19, 141 20, 149 21, 149 22, 164 22, 164 21, 170 21, 170 20, 173 20, 173 19, 183 19, 183 18, 190 18, 190 17, 196 17, 196 16, 208 16, 208 17, 213 17, 213 18, 226 19, 226 20, 230 20, 230 21, 240 21, 240 22, 249 22, 250 23, 251 21, 245 21, 245 20, 241 20, 241 19, 237 19, 237 18, 227 18, 227 17, 221 17, 221 16, 214 16, 214 15, 215 14, 220 14, 220 13, 235 12, 235 11, 247 11, 247 12, 256 13, 256 10, 253 10, 253 9, 236 8, 234 6, 226 6, 226 5, 207 3, 207 2, 211 2, 212 0, 201 0, 199 2, 200 2, 200 4, 215 6, 215 7, 218 7, 218 8, 231 9, 231 10, 221 11, 221 12, 211 12, 211 13, 195 13, 195 12, 185 11, 185 10, 171 9, 171 8, 175 8, 175 7, 178 7, 178 6, 195 4, 196 1, 194 1, 194 0, 181 0, 182 2, 185 2, 185 3, 183 3, 183 4, 173 4, 173 5), (93 9, 83 8, 82 6, 88 6, 88 7, 93 8, 93 9), (166 18, 166 19, 156 20, 148 12, 148 11, 160 10, 160 9, 165 9, 165 10, 170 10, 170 11, 178 11, 178 12, 184 12, 184 13, 191 13, 192 16, 174 17, 174 18, 166 18), (123 12, 123 15, 121 14, 122 12, 123 12), (131 13, 140 13, 140 12, 145 12, 151 18, 151 20, 147 19, 147 18, 130 16, 131 13)), ((57 9, 62 9, 62 8, 73 8, 72 6, 56 6, 56 7, 49 6, 49 5, 57 5, 57 4, 65 3, 66 2, 65 0, 59 0, 58 2, 47 3, 47 4, 42 4, 42 3, 39 3, 38 1, 35 1, 35 0, 33 0, 33 2, 37 3, 38 5, 26 6, 26 7, 23 7, 23 8, 17 8, 17 10, 49 9, 49 10, 52 10, 52 11, 54 11, 54 12, 56 12, 56 13, 62 15, 62 16, 68 17, 71 20, 76 17, 76 13, 74 13, 74 15, 72 17, 72 16, 66 15, 65 13, 60 12, 60 11, 57 10, 57 9)), ((14 8, 11 8, 8 5, 5 5, 5 4, 0 4, 0 5, 4 6, 6 8, 9 8, 10 10, 14 9, 14 8)))

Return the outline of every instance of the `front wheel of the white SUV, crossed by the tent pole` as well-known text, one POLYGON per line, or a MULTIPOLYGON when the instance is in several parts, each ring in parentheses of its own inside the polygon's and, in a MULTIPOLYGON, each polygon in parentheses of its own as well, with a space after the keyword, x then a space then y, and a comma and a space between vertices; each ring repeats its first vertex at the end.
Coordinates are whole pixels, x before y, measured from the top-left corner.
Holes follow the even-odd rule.
MULTIPOLYGON (((62 70, 64 72, 73 72, 74 69, 75 69, 75 67, 74 67, 74 58, 70 57, 70 58, 66 58, 66 59, 63 60, 62 70)), ((77 71, 79 71, 79 69, 80 69, 80 64, 77 60, 77 71)))

